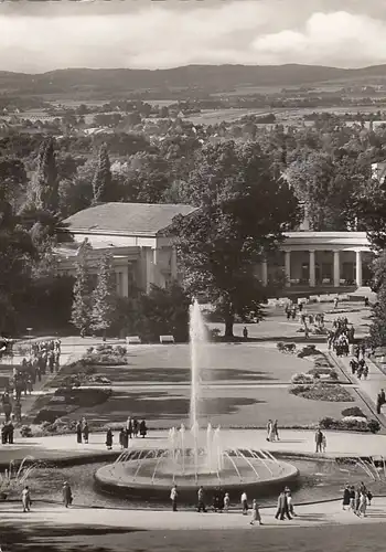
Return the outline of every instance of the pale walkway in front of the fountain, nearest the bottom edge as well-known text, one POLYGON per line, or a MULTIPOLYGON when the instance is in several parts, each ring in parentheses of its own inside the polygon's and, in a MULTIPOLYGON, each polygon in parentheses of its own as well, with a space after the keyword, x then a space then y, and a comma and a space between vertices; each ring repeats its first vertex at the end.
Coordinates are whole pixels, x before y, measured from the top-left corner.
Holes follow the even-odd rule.
MULTIPOLYGON (((261 508, 264 526, 258 530, 278 527, 315 527, 325 524, 357 524, 379 523, 384 521, 386 512, 386 498, 373 499, 373 505, 367 509, 365 518, 358 518, 351 511, 343 511, 341 501, 314 503, 296 507, 297 517, 290 521, 275 519, 275 508, 261 508)), ((3 522, 17 526, 44 524, 44 526, 76 526, 137 529, 137 530, 192 530, 192 529, 249 529, 249 517, 240 512, 229 513, 197 513, 195 511, 171 512, 157 511, 157 516, 149 510, 124 509, 86 509, 61 506, 39 505, 32 507, 29 514, 21 512, 20 505, 0 505, 3 522)), ((257 528, 256 528, 257 529, 257 528)))

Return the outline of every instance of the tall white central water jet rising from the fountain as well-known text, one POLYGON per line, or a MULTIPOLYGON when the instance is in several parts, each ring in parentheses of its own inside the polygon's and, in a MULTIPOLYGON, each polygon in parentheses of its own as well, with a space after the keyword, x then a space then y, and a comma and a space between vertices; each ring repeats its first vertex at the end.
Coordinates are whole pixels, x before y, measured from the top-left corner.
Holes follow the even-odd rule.
POLYGON ((190 346, 191 346, 191 427, 199 425, 199 405, 201 396, 201 369, 203 368, 203 355, 207 343, 206 328, 200 305, 193 301, 190 308, 190 346))

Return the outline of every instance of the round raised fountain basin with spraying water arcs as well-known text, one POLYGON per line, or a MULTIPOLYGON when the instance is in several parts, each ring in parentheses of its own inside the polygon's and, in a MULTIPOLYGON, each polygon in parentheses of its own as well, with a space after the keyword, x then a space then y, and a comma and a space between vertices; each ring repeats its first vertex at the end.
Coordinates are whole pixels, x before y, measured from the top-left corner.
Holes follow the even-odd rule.
POLYGON ((167 493, 173 485, 176 485, 180 491, 190 493, 195 493, 201 485, 207 490, 222 487, 229 492, 256 487, 258 492, 266 492, 294 480, 299 475, 291 464, 259 457, 259 452, 255 450, 232 449, 229 454, 225 453, 218 471, 204 465, 195 467, 189 458, 183 466, 173 465, 168 458, 163 461, 163 454, 168 454, 168 449, 157 449, 150 458, 136 458, 132 452, 132 459, 99 468, 95 480, 98 487, 107 492, 132 496, 149 491, 154 498, 169 498, 167 493))

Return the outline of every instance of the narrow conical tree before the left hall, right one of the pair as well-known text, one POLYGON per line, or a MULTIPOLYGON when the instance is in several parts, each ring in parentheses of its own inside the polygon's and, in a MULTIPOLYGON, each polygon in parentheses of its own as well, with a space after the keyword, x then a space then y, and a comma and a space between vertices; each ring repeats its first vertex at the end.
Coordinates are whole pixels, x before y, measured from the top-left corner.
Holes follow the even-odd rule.
POLYGON ((104 254, 98 266, 98 279, 93 291, 92 328, 106 331, 112 326, 117 315, 117 291, 112 256, 104 254))

